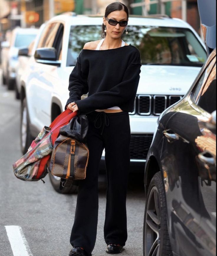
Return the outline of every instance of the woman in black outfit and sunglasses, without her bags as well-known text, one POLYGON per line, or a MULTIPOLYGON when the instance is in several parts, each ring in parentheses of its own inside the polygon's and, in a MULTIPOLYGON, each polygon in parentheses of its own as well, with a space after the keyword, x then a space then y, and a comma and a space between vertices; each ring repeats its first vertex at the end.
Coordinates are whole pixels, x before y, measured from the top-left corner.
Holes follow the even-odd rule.
POLYGON ((86 114, 90 151, 86 179, 78 188, 69 256, 91 255, 98 221, 98 172, 103 149, 107 176, 104 238, 107 253, 121 253, 127 239, 126 191, 130 165, 129 112, 139 83, 139 51, 122 39, 128 9, 114 2, 103 17, 103 39, 85 44, 69 78, 66 108, 86 114), (86 99, 81 100, 83 94, 86 99))

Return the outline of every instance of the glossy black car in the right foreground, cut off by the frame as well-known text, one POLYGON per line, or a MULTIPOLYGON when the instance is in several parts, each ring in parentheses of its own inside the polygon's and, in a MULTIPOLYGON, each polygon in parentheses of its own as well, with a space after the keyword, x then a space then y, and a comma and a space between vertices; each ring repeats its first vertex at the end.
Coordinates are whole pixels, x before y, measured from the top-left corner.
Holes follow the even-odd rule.
POLYGON ((216 49, 147 155, 144 256, 216 255, 216 49))

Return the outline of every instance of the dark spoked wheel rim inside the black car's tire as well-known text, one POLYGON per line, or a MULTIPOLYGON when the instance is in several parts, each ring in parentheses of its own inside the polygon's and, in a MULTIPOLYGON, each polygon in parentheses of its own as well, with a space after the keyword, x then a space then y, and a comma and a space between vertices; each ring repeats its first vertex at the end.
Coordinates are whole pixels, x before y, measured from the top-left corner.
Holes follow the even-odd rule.
POLYGON ((157 188, 150 191, 145 216, 145 256, 160 255, 160 203, 157 188))

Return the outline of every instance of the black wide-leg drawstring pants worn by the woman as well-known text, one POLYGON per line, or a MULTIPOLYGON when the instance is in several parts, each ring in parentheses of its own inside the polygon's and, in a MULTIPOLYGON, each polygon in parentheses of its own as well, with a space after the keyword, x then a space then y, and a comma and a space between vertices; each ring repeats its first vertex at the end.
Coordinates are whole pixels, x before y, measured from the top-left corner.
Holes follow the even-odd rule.
POLYGON ((125 245, 127 239, 126 192, 130 166, 130 124, 127 112, 87 114, 90 151, 86 179, 79 181, 75 220, 70 237, 73 247, 83 247, 88 254, 96 242, 98 222, 98 173, 105 148, 107 176, 106 244, 125 245))

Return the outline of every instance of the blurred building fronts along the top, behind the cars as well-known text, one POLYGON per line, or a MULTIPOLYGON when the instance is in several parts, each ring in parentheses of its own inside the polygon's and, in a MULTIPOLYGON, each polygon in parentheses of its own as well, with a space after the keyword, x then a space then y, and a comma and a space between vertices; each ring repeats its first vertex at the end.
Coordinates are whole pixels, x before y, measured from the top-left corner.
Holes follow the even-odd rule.
MULTIPOLYGON (((114 0, 0 0, 0 4, 3 3, 3 1, 9 4, 11 9, 11 14, 7 15, 7 18, 10 19, 11 28, 17 25, 20 25, 21 27, 39 27, 43 22, 54 15, 63 12, 103 15, 106 6, 114 2, 114 0), (15 9, 16 13, 14 12, 13 14, 15 9)), ((119 1, 129 8, 130 14, 142 15, 143 11, 141 6, 131 7, 131 4, 142 2, 150 3, 150 5, 146 6, 147 14, 157 14, 160 12, 158 4, 151 4, 154 0, 119 1)), ((186 2, 187 22, 200 34, 200 17, 197 0, 186 0, 186 2)), ((165 3, 165 14, 170 17, 182 18, 182 1, 173 0, 165 3)), ((1 18, 2 17, 0 16, 0 19, 1 18)))

